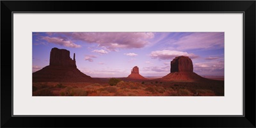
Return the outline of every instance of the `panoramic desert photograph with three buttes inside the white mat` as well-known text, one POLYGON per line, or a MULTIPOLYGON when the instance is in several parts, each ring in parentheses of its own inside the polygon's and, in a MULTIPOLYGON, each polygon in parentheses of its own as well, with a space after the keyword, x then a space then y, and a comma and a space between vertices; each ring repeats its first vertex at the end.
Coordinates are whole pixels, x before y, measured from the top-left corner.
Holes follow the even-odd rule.
POLYGON ((33 32, 33 96, 224 96, 224 32, 33 32))

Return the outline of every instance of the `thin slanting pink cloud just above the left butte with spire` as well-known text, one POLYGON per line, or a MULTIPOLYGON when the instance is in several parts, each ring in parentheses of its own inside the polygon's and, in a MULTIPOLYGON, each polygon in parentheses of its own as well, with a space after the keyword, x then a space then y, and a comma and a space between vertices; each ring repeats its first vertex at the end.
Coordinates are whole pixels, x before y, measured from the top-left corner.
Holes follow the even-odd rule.
POLYGON ((81 47, 81 45, 74 44, 71 40, 65 40, 65 38, 42 36, 41 39, 46 40, 49 43, 63 45, 65 47, 81 47))

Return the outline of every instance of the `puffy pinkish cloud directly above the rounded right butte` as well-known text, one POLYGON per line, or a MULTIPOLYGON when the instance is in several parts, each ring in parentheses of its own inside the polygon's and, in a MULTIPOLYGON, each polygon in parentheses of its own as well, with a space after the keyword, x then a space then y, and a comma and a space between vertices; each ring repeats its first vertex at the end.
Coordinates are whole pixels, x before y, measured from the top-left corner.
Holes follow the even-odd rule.
POLYGON ((152 51, 150 53, 150 57, 152 59, 159 59, 159 60, 172 60, 177 56, 189 56, 189 58, 194 59, 197 58, 195 54, 188 52, 181 52, 181 51, 170 51, 170 50, 163 50, 163 51, 152 51))

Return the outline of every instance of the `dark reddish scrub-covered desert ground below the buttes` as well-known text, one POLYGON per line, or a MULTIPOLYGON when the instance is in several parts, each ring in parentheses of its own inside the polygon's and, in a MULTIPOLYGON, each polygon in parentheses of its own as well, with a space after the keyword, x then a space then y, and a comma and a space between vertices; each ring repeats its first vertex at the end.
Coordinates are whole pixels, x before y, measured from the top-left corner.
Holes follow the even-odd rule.
POLYGON ((224 81, 95 78, 97 83, 33 83, 33 96, 224 96, 224 81))

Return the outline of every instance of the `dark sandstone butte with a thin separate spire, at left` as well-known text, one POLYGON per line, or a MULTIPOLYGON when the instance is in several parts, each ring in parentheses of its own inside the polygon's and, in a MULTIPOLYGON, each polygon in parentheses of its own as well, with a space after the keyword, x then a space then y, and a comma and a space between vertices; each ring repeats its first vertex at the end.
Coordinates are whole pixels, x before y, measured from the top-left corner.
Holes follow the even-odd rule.
POLYGON ((92 77, 83 74, 76 67, 76 54, 73 60, 66 49, 51 49, 48 66, 33 73, 33 82, 90 82, 92 77))

